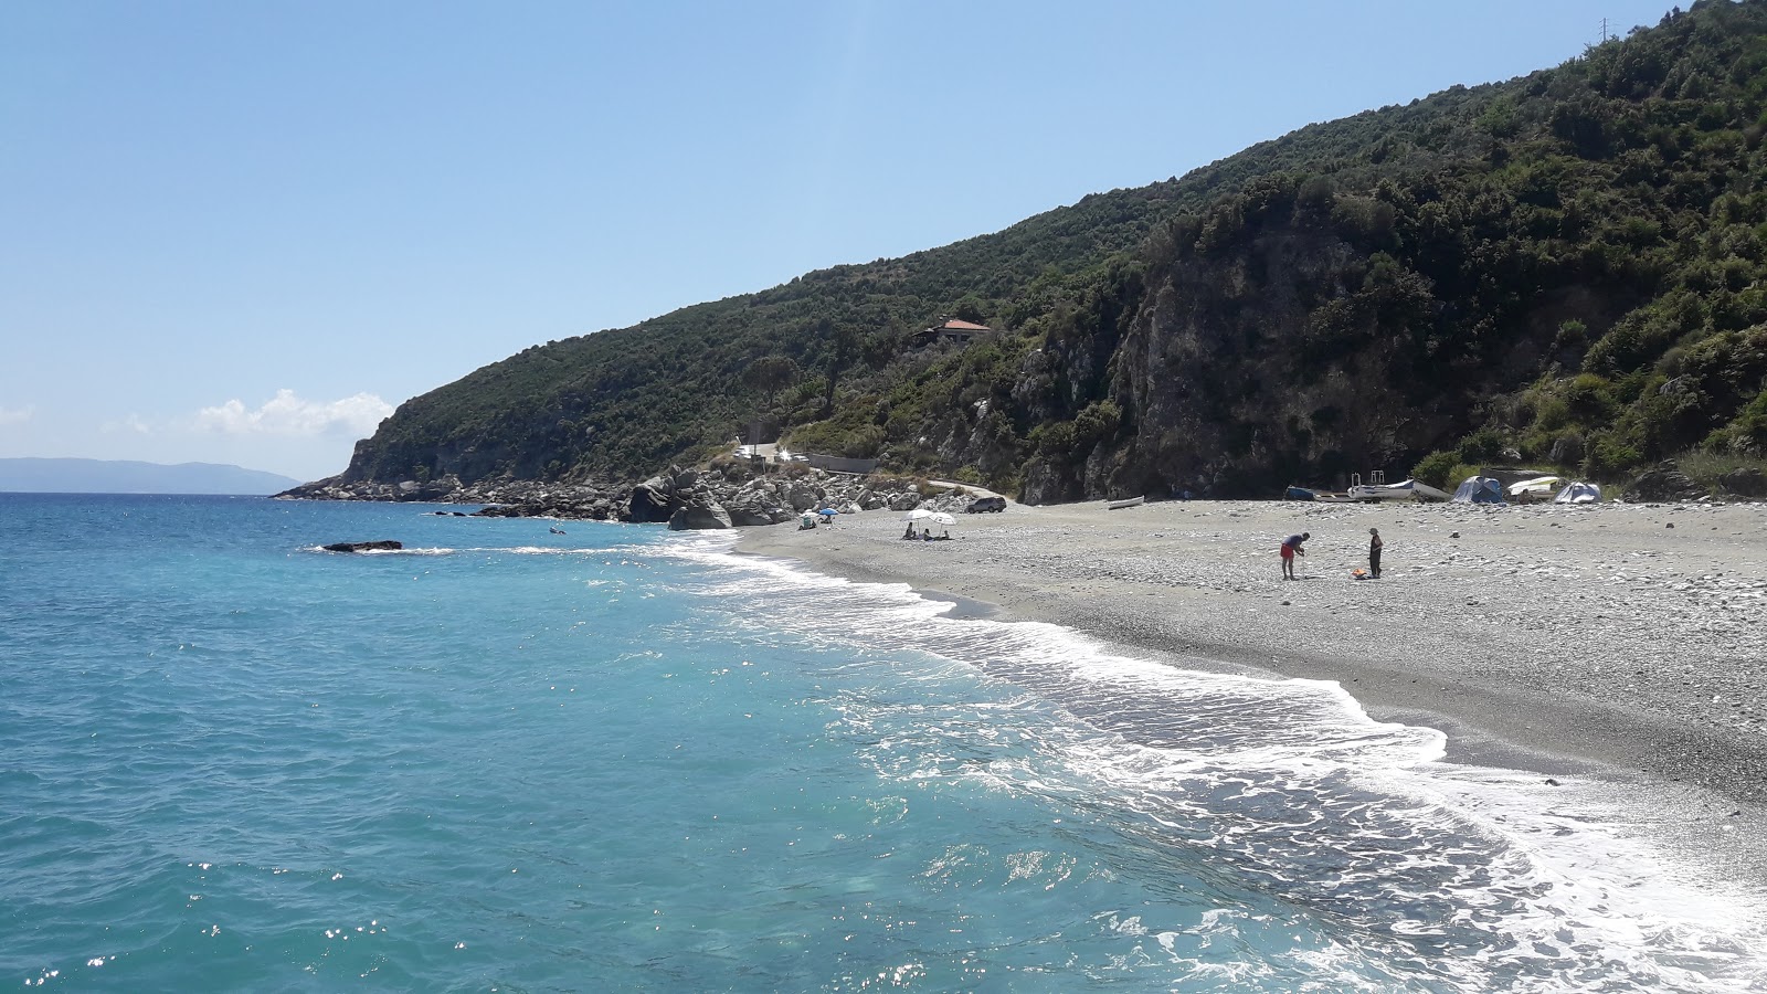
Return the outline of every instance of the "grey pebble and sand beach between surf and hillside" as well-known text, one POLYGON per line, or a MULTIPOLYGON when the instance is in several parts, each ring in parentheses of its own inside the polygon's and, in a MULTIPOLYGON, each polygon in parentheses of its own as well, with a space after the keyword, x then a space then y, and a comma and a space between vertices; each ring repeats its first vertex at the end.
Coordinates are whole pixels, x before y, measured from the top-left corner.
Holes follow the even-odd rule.
POLYGON ((1103 502, 751 527, 735 550, 906 584, 952 617, 1048 621, 1168 665, 1336 681, 1442 762, 1619 789, 1638 830, 1767 883, 1767 504, 1103 502), (1382 580, 1368 529, 1385 539, 1382 580), (1311 531, 1302 582, 1276 545, 1311 531))

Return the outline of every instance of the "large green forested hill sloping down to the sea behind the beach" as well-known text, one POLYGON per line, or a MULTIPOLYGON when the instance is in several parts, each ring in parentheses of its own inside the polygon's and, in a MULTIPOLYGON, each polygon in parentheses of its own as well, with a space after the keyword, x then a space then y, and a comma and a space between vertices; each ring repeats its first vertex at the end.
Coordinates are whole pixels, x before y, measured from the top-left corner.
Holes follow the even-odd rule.
POLYGON ((1004 232, 534 347, 346 481, 640 478, 760 421, 1027 501, 1767 446, 1767 0, 1004 232), (944 318, 997 333, 926 341, 944 318))

